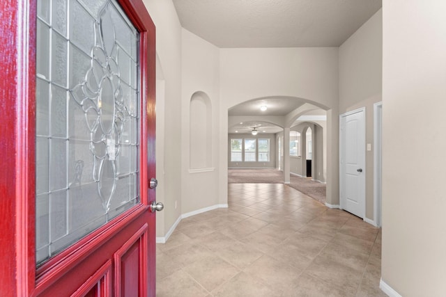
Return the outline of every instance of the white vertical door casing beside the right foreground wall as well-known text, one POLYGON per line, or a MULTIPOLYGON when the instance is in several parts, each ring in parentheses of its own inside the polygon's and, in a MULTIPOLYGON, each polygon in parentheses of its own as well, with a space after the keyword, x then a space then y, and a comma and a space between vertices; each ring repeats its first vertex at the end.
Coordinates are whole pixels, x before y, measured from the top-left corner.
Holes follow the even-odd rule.
POLYGON ((378 157, 380 159, 383 158, 382 153, 382 145, 383 145, 383 102, 377 102, 374 104, 374 225, 377 227, 381 227, 383 225, 383 218, 382 218, 382 203, 383 203, 383 193, 382 189, 381 194, 378 195, 378 178, 380 178, 381 183, 383 181, 382 177, 382 168, 383 164, 379 164, 378 168, 378 157), (378 113, 379 112, 379 113, 378 113), (378 115, 379 115, 379 122, 378 122, 378 115), (378 125, 379 124, 379 125, 378 125), (379 129, 380 128, 380 129, 379 129), (380 133, 378 133, 378 130, 380 130, 380 133), (380 139, 380 143, 378 143, 377 139, 380 139), (381 169, 381 176, 378 176, 378 169, 381 169))

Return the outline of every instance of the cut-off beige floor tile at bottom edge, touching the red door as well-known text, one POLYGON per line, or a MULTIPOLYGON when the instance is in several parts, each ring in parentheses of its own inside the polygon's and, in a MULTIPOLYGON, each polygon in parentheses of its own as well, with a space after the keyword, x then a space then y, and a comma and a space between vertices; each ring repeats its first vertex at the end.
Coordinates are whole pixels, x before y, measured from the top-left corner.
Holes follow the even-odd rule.
POLYGON ((206 289, 182 270, 167 278, 157 280, 157 297, 204 297, 208 294, 206 289))

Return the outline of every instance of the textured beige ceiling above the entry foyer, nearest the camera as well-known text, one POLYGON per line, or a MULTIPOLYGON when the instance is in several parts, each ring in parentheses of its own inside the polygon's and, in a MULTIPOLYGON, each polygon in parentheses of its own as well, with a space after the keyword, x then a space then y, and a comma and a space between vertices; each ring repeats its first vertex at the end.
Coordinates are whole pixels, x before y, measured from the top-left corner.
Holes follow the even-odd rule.
POLYGON ((217 47, 339 47, 381 0, 174 0, 183 28, 217 47))

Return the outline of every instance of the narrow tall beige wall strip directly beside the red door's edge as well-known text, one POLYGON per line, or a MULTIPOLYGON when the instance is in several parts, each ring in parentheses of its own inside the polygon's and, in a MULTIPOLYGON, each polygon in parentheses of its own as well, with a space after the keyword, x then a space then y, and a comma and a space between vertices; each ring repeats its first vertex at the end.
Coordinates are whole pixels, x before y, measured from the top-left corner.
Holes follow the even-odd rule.
POLYGON ((156 51, 159 66, 162 68, 162 77, 158 79, 157 86, 164 86, 164 90, 157 90, 157 99, 160 91, 164 102, 157 106, 156 125, 157 138, 164 143, 164 147, 157 145, 157 201, 164 203, 164 211, 157 214, 157 236, 169 231, 180 216, 180 208, 175 209, 175 201, 181 197, 181 175, 178 164, 181 163, 181 154, 178 153, 178 140, 181 139, 181 25, 176 15, 174 4, 169 1, 144 0, 156 26, 156 51), (163 112, 164 111, 164 112, 163 112), (162 195, 160 195, 162 194, 162 195), (158 235, 159 234, 159 235, 158 235))

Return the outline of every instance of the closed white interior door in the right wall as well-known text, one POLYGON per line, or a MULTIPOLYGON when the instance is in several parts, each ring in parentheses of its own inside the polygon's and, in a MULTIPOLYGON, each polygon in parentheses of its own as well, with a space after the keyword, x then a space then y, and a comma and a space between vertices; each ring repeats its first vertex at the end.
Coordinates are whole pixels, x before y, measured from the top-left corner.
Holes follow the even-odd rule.
POLYGON ((365 109, 340 117, 339 168, 341 208, 365 216, 365 109))

